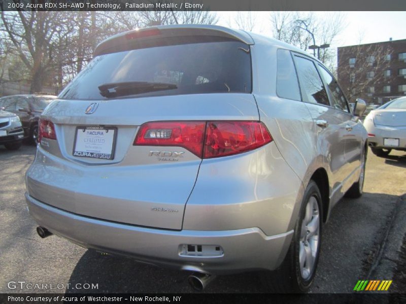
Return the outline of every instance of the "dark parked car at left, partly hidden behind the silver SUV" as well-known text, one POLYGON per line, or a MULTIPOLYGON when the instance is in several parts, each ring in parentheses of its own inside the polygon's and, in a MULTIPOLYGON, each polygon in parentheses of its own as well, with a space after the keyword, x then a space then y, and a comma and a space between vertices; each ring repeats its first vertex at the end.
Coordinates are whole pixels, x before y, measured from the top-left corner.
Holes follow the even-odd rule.
POLYGON ((12 95, 0 98, 0 107, 15 113, 21 120, 25 137, 36 143, 40 114, 55 98, 53 95, 12 95))

